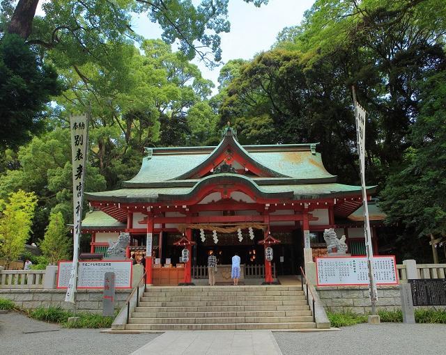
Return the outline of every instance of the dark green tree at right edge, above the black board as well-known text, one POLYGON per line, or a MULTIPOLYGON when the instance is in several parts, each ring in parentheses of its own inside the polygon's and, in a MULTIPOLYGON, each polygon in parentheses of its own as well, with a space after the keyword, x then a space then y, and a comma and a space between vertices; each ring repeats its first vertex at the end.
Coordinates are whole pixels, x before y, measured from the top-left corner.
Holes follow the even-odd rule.
POLYGON ((394 166, 380 194, 387 223, 402 226, 399 242, 407 257, 420 259, 430 235, 446 235, 446 71, 434 74, 421 88, 422 108, 410 134, 411 146, 394 166), (421 240, 421 243, 417 239, 421 240), (410 244, 424 244, 415 251, 410 244))

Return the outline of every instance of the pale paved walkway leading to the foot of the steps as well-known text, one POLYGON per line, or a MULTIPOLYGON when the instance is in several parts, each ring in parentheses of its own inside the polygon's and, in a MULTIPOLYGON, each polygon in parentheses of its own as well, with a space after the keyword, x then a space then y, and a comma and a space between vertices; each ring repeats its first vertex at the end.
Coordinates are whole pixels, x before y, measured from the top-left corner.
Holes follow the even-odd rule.
POLYGON ((132 355, 282 355, 270 331, 167 331, 132 355))

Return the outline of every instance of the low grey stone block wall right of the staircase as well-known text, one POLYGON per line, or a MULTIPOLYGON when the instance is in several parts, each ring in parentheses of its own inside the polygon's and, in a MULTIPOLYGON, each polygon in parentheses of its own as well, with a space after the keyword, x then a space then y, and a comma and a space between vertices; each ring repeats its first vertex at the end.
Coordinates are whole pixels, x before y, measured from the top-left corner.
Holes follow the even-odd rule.
MULTIPOLYGON (((368 286, 318 286, 321 303, 332 312, 370 313, 368 286)), ((378 310, 401 309, 399 285, 378 286, 378 310)))

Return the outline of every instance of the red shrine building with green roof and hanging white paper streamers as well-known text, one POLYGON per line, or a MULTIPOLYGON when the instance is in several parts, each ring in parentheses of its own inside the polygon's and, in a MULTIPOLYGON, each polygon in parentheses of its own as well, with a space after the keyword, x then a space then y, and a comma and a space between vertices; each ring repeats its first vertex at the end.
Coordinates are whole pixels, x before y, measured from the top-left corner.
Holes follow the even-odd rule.
MULTIPOLYGON (((277 274, 300 274, 304 248, 317 254, 325 228, 346 235, 348 253, 364 255, 361 187, 337 182, 316 144, 242 146, 226 127, 217 147, 146 148, 123 189, 85 194, 92 212, 82 232, 91 235, 92 253, 107 253, 109 239, 128 232, 128 256, 146 255, 148 240, 146 283, 153 285, 204 278, 211 252, 219 265, 238 252, 245 278, 270 283, 277 274)), ((374 192, 367 189, 369 198, 374 192)), ((383 216, 373 203, 369 209, 377 254, 373 220, 383 216)))

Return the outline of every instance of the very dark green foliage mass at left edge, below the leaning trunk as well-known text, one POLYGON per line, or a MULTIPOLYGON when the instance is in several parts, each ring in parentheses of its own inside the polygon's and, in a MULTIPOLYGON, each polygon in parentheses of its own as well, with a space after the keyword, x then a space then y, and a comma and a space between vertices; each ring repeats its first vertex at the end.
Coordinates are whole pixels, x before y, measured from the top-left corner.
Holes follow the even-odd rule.
POLYGON ((17 149, 45 130, 45 104, 61 93, 54 67, 19 36, 0 39, 0 148, 17 149))

